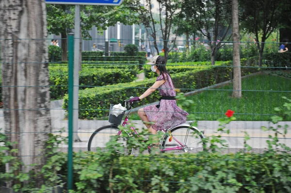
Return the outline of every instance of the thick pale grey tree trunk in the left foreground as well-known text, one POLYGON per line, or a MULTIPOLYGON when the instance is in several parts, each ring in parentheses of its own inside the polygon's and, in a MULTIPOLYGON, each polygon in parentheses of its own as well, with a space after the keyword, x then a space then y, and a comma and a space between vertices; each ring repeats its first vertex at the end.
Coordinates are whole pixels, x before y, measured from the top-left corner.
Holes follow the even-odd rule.
POLYGON ((0 2, 2 99, 5 133, 17 144, 25 172, 38 171, 51 132, 46 4, 44 0, 0 2), (31 166, 31 164, 36 164, 31 166))

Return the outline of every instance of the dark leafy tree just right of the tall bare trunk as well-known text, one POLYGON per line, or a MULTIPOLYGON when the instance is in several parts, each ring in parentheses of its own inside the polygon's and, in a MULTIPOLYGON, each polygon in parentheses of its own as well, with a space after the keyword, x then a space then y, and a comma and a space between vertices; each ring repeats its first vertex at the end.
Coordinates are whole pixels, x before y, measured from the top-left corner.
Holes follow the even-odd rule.
POLYGON ((259 66, 262 66, 265 41, 278 27, 288 0, 240 0, 242 27, 256 36, 259 66), (259 39, 260 38, 260 39, 259 39))

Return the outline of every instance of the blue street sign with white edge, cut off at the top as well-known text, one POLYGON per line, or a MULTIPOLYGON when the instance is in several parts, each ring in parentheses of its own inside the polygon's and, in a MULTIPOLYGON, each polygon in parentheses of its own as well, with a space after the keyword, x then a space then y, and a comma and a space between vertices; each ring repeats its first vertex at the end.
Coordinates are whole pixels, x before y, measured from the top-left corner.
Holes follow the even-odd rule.
POLYGON ((123 0, 46 0, 49 4, 120 5, 123 0))

